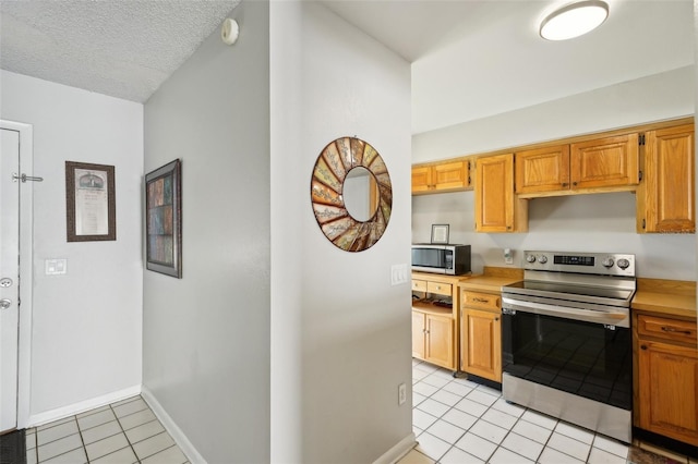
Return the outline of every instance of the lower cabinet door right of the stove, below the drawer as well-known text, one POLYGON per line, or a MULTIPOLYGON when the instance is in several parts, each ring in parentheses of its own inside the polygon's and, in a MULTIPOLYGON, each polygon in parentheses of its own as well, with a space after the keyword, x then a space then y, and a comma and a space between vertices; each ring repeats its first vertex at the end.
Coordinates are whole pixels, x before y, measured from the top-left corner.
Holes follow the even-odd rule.
POLYGON ((698 351, 639 341, 640 427, 698 445, 698 351))

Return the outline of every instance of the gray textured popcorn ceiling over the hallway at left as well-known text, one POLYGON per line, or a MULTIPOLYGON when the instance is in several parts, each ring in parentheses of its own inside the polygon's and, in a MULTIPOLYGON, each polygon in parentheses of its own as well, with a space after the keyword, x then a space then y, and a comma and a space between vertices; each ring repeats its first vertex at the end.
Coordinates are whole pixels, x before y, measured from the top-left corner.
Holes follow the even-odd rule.
POLYGON ((240 0, 0 1, 0 68, 144 102, 240 0))

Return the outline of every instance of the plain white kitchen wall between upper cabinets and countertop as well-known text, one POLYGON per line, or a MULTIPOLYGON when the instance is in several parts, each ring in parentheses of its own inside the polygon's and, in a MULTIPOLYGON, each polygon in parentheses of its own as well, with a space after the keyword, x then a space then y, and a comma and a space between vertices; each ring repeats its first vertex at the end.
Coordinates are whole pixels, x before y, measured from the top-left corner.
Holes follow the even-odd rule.
POLYGON ((635 195, 612 193, 535 198, 529 204, 529 232, 476 233, 474 194, 412 196, 412 242, 429 242, 432 224, 449 224, 452 243, 472 246, 472 270, 520 267, 525 249, 614 252, 636 255, 638 277, 696 279, 695 234, 638 234, 635 195), (514 265, 504 262, 504 248, 514 265))

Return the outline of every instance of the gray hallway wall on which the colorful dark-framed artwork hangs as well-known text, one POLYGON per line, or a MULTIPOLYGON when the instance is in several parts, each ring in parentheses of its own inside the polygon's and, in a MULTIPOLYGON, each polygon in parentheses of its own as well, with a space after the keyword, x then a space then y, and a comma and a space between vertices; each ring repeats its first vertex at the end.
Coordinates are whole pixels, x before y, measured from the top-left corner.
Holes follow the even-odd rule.
POLYGON ((230 14, 145 105, 145 172, 182 160, 183 278, 144 271, 143 384, 209 463, 269 461, 268 3, 230 14))

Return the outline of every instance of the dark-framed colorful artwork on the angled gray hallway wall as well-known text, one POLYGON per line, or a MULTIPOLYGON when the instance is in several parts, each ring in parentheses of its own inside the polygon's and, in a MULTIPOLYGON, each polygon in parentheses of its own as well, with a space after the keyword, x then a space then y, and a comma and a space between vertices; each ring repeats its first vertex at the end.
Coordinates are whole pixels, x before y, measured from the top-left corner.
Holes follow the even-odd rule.
POLYGON ((145 267, 182 278, 182 166, 179 159, 145 174, 145 267))

